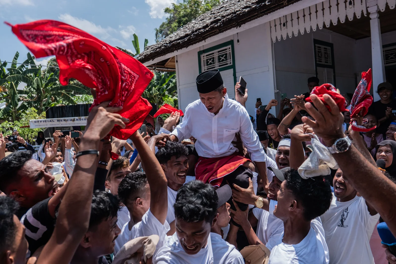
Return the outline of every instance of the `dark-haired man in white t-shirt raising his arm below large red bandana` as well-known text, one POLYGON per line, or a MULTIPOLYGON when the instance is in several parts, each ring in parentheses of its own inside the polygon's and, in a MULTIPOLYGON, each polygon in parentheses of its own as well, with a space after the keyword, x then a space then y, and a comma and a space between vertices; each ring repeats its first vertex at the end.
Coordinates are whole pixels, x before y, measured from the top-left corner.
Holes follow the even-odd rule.
POLYGON ((115 251, 135 237, 158 235, 160 241, 157 248, 165 241, 169 231, 166 222, 167 181, 160 163, 152 153, 148 155, 147 151, 151 152, 156 145, 164 146, 164 141, 168 138, 169 135, 165 134, 152 137, 144 151, 139 151, 145 172, 129 173, 118 186, 118 196, 128 208, 131 220, 123 226, 115 251))

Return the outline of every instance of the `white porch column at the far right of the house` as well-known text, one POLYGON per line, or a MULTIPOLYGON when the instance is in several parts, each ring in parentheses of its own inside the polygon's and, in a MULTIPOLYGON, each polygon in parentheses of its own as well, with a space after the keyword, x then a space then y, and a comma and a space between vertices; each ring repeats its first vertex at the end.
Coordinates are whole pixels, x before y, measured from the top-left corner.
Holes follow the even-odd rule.
MULTIPOLYGON (((367 0, 367 6, 369 5, 367 0)), ((377 2, 377 1, 375 1, 377 2)), ((381 38, 381 27, 379 24, 379 8, 377 3, 373 6, 369 6, 367 10, 370 12, 370 29, 371 29, 371 60, 373 67, 373 94, 374 101, 378 101, 379 95, 375 92, 377 91, 377 86, 381 82, 385 82, 385 66, 382 53, 382 38, 381 38)))

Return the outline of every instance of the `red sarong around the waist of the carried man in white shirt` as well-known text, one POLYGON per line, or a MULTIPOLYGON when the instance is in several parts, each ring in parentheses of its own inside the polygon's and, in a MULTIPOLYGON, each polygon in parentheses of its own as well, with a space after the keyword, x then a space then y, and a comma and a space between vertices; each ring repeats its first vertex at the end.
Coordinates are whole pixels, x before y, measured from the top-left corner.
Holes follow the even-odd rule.
POLYGON ((220 158, 200 157, 195 165, 195 179, 220 187, 223 177, 244 165, 246 161, 250 160, 236 154, 220 158))

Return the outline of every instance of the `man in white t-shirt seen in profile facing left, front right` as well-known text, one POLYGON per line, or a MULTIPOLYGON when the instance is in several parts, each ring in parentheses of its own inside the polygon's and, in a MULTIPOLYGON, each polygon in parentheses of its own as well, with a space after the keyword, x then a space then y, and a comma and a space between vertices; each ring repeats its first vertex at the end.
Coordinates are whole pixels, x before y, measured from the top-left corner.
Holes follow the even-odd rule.
POLYGON ((280 237, 271 237, 269 264, 328 264, 324 230, 320 222, 330 207, 330 184, 324 177, 303 179, 294 169, 278 191, 274 216, 284 223, 280 237))

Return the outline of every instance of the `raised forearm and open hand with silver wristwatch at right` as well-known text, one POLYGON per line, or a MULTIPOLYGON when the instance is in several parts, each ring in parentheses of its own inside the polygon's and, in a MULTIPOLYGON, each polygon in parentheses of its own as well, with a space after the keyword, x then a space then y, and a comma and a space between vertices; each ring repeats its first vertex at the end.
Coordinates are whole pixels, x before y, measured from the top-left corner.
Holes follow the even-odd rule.
MULTIPOLYGON (((306 103, 306 107, 315 121, 303 117, 303 122, 310 125, 327 146, 332 146, 336 139, 345 137, 341 126, 344 117, 329 95, 323 97, 331 112, 316 95, 311 95, 310 98, 318 110, 310 103, 306 103)), ((343 177, 373 206, 388 224, 392 234, 396 235, 396 184, 376 166, 367 162, 354 144, 346 152, 333 154, 333 157, 343 171, 343 177)))

